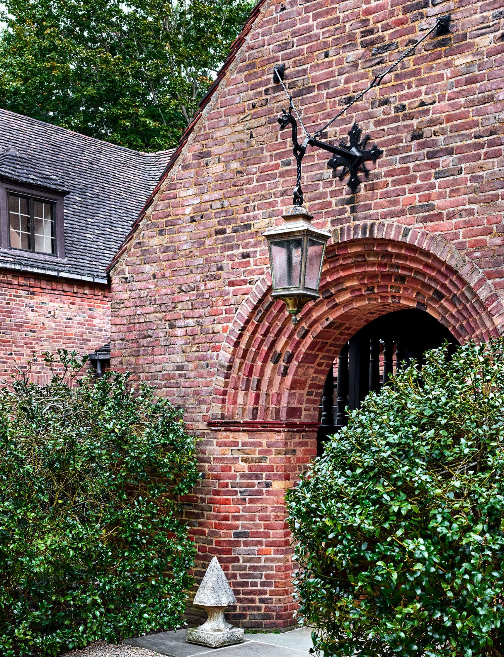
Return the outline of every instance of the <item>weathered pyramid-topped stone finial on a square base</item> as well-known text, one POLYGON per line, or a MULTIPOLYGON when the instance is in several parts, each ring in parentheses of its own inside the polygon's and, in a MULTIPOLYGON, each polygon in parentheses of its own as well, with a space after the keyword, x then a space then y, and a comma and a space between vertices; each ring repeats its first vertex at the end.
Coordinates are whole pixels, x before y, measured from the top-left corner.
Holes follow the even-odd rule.
POLYGON ((194 604, 203 607, 208 618, 203 625, 188 629, 188 643, 196 643, 210 648, 242 643, 243 629, 226 623, 224 618, 226 606, 235 602, 236 598, 222 571, 221 564, 219 564, 217 556, 214 556, 194 597, 194 604))

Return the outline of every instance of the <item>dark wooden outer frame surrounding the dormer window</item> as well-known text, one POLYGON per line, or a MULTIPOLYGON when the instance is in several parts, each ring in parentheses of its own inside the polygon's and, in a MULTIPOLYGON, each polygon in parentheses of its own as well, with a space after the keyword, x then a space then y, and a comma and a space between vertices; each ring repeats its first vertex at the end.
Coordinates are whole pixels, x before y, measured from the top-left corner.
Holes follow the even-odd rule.
MULTIPOLYGON (((30 214, 32 213, 30 212, 30 214)), ((16 185, 15 183, 0 181, 0 219, 0 246, 3 250, 12 253, 26 254, 27 256, 29 255, 30 258, 35 258, 37 260, 46 262, 48 260, 52 261, 55 258, 61 260, 65 257, 63 194, 46 191, 41 187, 16 185), (54 253, 45 253, 33 251, 30 249, 20 249, 16 248, 15 246, 11 246, 9 194, 30 198, 30 208, 33 206, 33 200, 39 200, 51 204, 54 228, 54 253)), ((33 221, 31 222, 31 237, 33 239, 33 221)))

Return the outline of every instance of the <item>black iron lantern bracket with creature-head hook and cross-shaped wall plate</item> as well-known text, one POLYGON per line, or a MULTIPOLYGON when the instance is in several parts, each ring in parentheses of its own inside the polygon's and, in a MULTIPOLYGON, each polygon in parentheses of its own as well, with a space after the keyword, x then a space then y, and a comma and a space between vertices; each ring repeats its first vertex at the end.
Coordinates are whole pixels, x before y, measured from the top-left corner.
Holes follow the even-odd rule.
POLYGON ((361 139, 361 129, 357 124, 352 126, 352 129, 348 133, 350 141, 348 144, 343 142, 339 143, 339 146, 333 144, 328 144, 326 141, 320 141, 316 137, 311 135, 306 135, 305 141, 303 144, 299 144, 297 139, 297 121, 292 115, 293 106, 289 105, 287 110, 282 110, 282 113, 278 115, 278 123, 280 124, 280 129, 283 130, 287 125, 291 125, 292 128, 292 143, 293 143, 293 155, 296 160, 296 187, 294 188, 293 193, 293 202, 295 206, 303 205, 303 189, 301 188, 301 163, 305 157, 306 148, 308 146, 312 148, 322 148, 327 150, 329 153, 332 153, 333 156, 327 162, 327 166, 331 167, 334 171, 341 167, 341 172, 338 177, 340 180, 343 180, 343 177, 350 173, 350 179, 348 180, 348 187, 352 190, 352 193, 355 193, 359 183, 360 178, 358 173, 362 171, 366 178, 369 175, 369 170, 366 167, 366 162, 376 160, 381 156, 383 150, 377 148, 376 145, 366 149, 366 144, 369 140, 369 135, 366 135, 364 139, 361 139))

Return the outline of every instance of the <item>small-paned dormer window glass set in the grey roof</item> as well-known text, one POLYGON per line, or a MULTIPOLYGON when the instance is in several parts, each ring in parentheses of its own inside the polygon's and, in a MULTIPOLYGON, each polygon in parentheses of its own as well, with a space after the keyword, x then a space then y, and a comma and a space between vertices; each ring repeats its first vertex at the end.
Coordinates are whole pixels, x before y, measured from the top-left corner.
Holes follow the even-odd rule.
POLYGON ((54 255, 54 202, 11 192, 8 196, 11 248, 54 255))

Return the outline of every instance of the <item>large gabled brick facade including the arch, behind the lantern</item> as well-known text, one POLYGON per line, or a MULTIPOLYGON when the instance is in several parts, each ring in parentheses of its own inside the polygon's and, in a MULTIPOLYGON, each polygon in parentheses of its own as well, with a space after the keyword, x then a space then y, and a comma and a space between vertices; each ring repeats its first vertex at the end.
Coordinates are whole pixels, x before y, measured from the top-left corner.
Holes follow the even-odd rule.
POLYGON ((187 515, 198 574, 218 555, 232 579, 234 622, 292 622, 284 491, 316 453, 324 384, 349 338, 383 317, 397 327, 397 311, 453 342, 503 330, 502 7, 262 0, 114 259, 112 361, 183 405, 202 438, 187 515), (355 194, 326 152, 306 153, 306 208, 331 239, 320 299, 293 325, 272 300, 262 237, 295 185, 273 67, 285 64, 315 131, 446 14, 449 34, 324 135, 338 143, 356 122, 383 150, 355 194))

